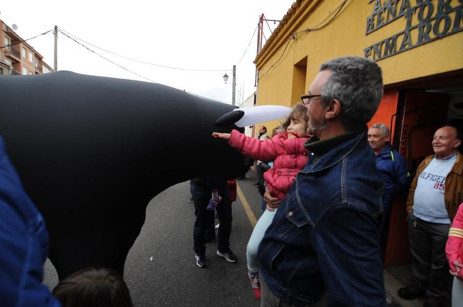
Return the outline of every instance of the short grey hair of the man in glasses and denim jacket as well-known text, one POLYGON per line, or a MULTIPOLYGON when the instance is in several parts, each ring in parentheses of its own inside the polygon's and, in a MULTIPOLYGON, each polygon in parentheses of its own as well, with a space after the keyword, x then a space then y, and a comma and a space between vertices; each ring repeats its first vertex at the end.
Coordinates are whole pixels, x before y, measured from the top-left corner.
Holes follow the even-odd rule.
POLYGON ((362 129, 375 114, 383 97, 381 68, 373 61, 356 56, 324 62, 320 71, 331 75, 322 89, 322 102, 341 102, 341 123, 347 131, 362 129))

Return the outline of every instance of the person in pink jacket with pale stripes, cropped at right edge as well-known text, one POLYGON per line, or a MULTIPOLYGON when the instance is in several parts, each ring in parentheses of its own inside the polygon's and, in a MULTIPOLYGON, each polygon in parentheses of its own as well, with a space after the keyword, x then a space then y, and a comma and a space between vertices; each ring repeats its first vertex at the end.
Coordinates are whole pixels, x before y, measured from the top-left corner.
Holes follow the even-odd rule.
POLYGON ((449 260, 450 274, 455 276, 452 287, 452 306, 457 306, 457 302, 463 302, 463 203, 459 205, 453 218, 445 252, 449 260))

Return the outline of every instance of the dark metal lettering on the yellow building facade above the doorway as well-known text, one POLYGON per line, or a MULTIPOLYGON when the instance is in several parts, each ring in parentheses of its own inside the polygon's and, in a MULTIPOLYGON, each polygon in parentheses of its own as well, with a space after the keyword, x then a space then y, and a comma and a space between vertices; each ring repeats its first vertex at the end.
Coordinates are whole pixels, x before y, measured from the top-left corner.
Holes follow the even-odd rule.
POLYGON ((365 57, 382 60, 397 53, 463 31, 463 0, 370 0, 366 35, 394 20, 405 20, 405 29, 364 49, 365 57), (414 6, 412 6, 412 4, 414 6))

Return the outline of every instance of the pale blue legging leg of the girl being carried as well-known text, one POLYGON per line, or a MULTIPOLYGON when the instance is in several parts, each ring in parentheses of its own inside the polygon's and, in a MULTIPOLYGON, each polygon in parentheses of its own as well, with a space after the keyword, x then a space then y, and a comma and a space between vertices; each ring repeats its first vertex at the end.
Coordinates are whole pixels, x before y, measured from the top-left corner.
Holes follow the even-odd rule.
POLYGON ((246 259, 247 268, 251 272, 259 271, 259 259, 257 259, 257 250, 259 249, 259 244, 262 241, 265 231, 273 220, 273 216, 275 216, 276 212, 277 209, 275 209, 275 211, 265 210, 262 216, 259 218, 259 221, 257 221, 256 227, 254 227, 251 237, 249 238, 249 242, 247 243, 246 248, 246 259))

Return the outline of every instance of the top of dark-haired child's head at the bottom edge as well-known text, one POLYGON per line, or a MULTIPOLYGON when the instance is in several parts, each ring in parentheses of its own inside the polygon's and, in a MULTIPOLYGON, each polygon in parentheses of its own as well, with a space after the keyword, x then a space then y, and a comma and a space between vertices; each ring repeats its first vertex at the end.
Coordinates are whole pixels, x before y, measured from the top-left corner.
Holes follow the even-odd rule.
POLYGON ((63 307, 133 307, 122 277, 106 268, 86 268, 69 275, 53 289, 63 307))

